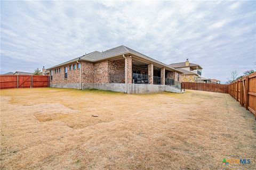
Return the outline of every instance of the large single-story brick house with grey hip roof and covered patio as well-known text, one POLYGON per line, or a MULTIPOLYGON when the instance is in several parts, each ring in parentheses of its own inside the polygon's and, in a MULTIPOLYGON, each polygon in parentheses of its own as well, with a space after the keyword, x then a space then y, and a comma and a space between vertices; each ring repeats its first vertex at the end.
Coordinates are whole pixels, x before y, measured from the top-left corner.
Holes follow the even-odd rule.
POLYGON ((180 90, 181 71, 131 48, 94 51, 47 69, 50 87, 145 93, 180 90), (170 86, 166 86, 170 85, 170 86))

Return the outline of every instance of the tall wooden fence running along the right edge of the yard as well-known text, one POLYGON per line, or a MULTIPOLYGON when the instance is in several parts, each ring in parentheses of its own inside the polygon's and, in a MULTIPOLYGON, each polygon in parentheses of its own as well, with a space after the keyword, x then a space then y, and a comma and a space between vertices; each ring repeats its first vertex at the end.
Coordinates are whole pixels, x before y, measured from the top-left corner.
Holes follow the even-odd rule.
POLYGON ((228 84, 228 94, 253 113, 256 120, 256 72, 228 84))

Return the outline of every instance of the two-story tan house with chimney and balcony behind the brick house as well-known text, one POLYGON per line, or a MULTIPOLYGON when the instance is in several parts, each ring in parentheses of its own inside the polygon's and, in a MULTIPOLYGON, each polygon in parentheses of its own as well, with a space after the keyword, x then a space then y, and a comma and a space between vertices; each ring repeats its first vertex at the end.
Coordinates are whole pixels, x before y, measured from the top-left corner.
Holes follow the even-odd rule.
POLYGON ((186 62, 169 64, 182 72, 181 81, 183 82, 204 82, 202 81, 202 67, 199 64, 186 62))

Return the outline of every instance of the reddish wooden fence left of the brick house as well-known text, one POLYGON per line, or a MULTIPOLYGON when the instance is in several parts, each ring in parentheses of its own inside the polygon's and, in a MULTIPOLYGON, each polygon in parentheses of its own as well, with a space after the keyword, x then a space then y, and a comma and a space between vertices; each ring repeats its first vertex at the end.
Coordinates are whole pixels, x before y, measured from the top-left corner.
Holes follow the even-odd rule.
POLYGON ((0 89, 49 87, 49 75, 0 75, 0 89))

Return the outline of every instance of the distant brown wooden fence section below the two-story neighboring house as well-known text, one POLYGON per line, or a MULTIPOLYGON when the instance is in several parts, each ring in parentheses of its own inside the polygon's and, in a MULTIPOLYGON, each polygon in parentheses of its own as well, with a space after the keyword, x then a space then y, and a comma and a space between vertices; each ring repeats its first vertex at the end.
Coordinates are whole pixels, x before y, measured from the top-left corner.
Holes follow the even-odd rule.
POLYGON ((228 87, 228 84, 182 82, 182 88, 185 88, 188 90, 222 92, 227 94, 227 87, 228 87))

